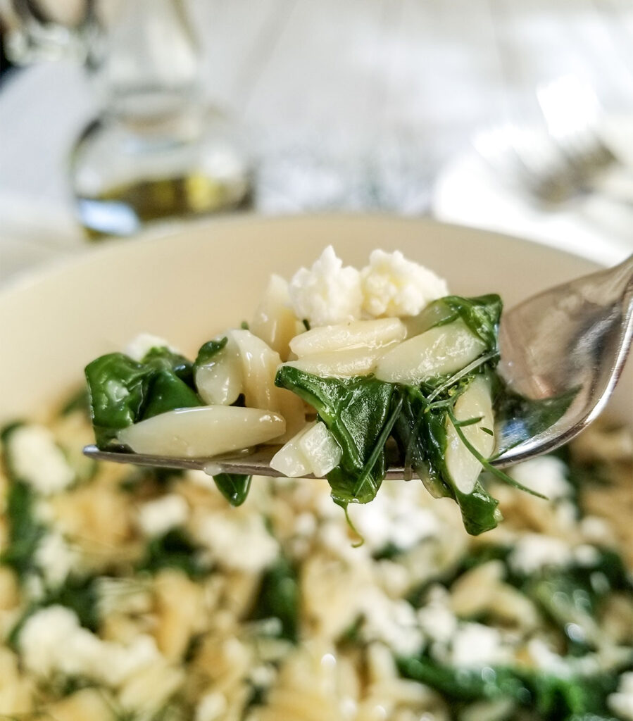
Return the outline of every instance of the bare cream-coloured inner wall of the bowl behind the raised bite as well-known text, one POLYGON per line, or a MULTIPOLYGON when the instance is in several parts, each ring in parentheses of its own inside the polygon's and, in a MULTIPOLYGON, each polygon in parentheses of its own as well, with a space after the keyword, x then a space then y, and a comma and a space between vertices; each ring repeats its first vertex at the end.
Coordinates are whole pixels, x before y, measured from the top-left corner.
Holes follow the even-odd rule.
MULTIPOLYGON (((147 331, 195 353, 252 316, 268 275, 286 278, 327 244, 364 265, 399 249, 461 295, 496 292, 506 306, 595 268, 588 260, 484 231, 387 216, 227 218, 115 241, 0 292, 0 422, 42 415, 88 361, 147 331)), ((633 363, 611 402, 632 421, 633 363)))

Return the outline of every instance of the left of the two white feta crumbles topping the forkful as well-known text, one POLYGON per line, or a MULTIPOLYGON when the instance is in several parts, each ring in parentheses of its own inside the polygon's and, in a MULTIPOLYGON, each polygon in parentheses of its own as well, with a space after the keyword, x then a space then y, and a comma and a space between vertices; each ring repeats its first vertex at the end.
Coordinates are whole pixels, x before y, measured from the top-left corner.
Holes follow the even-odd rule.
POLYGON ((307 319, 311 326, 360 318, 360 273, 343 267, 331 245, 310 269, 302 267, 293 275, 288 290, 296 317, 307 319))

